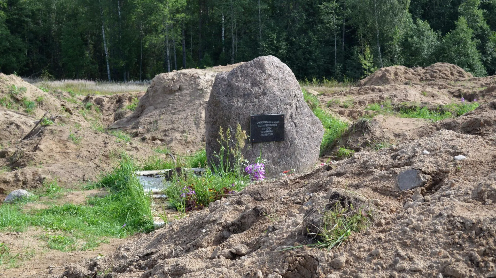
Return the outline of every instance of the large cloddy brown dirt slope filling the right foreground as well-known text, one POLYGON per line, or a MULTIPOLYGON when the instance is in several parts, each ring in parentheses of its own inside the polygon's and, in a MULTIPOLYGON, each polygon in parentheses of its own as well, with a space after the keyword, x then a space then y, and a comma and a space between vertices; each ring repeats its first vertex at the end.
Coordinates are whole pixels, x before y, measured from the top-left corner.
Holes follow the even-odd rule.
POLYGON ((60 268, 57 277, 492 277, 495 140, 441 130, 249 185, 110 256, 60 268), (427 184, 400 190, 397 176, 409 169, 427 184), (313 225, 337 203, 367 211, 372 225, 330 251, 288 249, 315 243, 313 225))

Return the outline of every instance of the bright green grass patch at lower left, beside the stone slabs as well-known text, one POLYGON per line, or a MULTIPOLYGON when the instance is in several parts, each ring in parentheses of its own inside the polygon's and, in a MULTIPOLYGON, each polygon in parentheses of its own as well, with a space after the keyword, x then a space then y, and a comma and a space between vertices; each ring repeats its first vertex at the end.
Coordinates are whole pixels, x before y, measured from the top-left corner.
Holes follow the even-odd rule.
MULTIPOLYGON (((0 206, 0 231, 22 232, 28 227, 45 231, 40 239, 47 247, 61 251, 87 250, 106 242, 107 237, 125 237, 153 229, 151 198, 134 176, 137 169, 123 155, 119 165, 88 187, 105 187, 111 193, 92 197, 88 205, 52 205, 48 209, 23 210, 25 201, 0 206)), ((64 189, 57 183, 45 185, 38 196, 56 196, 64 189)))

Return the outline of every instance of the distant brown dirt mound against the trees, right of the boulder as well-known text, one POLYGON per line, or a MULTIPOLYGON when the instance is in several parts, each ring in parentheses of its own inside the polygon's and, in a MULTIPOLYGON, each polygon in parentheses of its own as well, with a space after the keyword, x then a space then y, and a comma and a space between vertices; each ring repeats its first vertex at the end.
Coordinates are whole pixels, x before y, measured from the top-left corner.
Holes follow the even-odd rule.
POLYGON ((391 66, 375 71, 360 81, 359 87, 393 84, 410 85, 418 84, 422 81, 468 81, 471 78, 473 78, 471 73, 466 72, 457 65, 449 63, 435 63, 425 68, 391 66))

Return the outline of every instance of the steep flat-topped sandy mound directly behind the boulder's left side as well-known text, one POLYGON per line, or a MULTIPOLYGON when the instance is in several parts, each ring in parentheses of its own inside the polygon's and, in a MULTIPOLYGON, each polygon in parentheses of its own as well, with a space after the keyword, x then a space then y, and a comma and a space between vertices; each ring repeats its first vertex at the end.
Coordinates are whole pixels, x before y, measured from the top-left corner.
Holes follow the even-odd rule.
POLYGON ((110 128, 123 129, 147 143, 165 143, 176 153, 194 152, 205 145, 205 106, 215 76, 240 64, 161 73, 136 110, 110 128))

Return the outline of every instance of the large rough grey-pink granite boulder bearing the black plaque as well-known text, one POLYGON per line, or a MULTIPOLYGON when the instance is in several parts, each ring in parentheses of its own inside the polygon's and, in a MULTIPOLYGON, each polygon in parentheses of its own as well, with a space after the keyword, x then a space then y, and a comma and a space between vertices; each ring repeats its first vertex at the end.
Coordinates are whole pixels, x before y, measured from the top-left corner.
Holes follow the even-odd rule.
POLYGON ((323 136, 320 121, 310 111, 300 85, 289 67, 274 56, 255 58, 229 73, 219 73, 205 108, 207 159, 219 151, 219 127, 249 134, 249 115, 285 114, 285 140, 253 143, 243 151, 249 162, 267 159, 268 177, 295 169, 313 168, 323 136))

